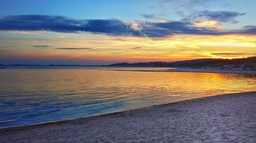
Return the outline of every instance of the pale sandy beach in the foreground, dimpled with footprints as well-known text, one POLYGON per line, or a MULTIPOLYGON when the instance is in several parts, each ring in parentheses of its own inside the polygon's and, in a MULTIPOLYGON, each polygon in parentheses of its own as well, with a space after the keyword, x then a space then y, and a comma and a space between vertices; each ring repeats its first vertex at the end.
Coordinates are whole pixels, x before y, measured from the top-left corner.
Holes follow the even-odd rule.
POLYGON ((0 129, 0 142, 255 142, 256 92, 0 129))

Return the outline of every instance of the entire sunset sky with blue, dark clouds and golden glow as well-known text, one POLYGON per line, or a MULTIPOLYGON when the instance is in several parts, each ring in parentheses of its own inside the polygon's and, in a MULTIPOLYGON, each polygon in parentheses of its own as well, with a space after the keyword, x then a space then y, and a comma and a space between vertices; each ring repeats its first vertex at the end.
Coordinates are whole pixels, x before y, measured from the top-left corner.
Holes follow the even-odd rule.
POLYGON ((256 55, 255 0, 0 0, 0 64, 256 55))

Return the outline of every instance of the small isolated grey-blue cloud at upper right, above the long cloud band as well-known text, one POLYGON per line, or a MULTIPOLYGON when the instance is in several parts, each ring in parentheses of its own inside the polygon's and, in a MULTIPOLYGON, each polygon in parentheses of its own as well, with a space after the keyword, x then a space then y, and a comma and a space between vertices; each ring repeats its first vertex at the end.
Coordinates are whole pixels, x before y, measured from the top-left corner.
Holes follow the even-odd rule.
POLYGON ((245 14, 246 13, 238 13, 238 12, 230 12, 230 11, 200 11, 198 13, 198 16, 202 18, 206 18, 208 20, 238 23, 238 21, 235 18, 245 14))

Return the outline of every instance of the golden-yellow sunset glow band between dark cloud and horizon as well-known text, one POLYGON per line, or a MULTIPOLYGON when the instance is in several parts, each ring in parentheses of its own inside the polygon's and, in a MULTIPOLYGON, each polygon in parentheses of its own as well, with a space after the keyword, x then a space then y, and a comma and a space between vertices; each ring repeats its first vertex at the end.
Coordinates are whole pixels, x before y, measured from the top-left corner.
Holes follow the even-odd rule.
POLYGON ((150 39, 88 33, 78 35, 45 32, 36 33, 33 36, 35 37, 33 39, 24 37, 10 40, 0 39, 0 42, 10 43, 6 44, 8 48, 0 52, 0 56, 115 63, 242 58, 254 56, 256 53, 256 36, 253 35, 172 35, 166 38, 150 39), (51 40, 44 39, 45 35, 48 35, 51 40), (49 47, 36 48, 32 45, 48 45, 49 47))

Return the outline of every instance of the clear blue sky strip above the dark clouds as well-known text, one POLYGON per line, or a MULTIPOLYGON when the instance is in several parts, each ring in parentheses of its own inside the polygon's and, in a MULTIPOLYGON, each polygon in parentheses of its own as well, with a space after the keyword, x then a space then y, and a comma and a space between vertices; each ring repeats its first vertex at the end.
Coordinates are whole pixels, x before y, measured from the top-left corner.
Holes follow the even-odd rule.
MULTIPOLYGON (((191 1, 191 0, 189 0, 191 1)), ((256 24, 253 17, 256 16, 256 1, 236 1, 236 0, 209 0, 198 1, 196 4, 186 4, 184 0, 130 0, 130 1, 20 1, 8 0, 1 1, 0 16, 7 15, 58 15, 75 19, 110 19, 116 18, 120 20, 150 20, 143 18, 142 14, 155 15, 157 18, 168 20, 181 20, 182 17, 177 15, 177 11, 191 13, 195 11, 233 11, 246 13, 237 25, 256 24), (183 5, 184 3, 184 5, 183 5), (183 6, 182 6, 183 5, 183 6), (187 6, 186 6, 187 5, 187 6), (189 9, 188 9, 189 8, 189 9)), ((191 1, 193 2, 193 1, 191 1)), ((232 27, 232 25, 230 25, 232 27)))

